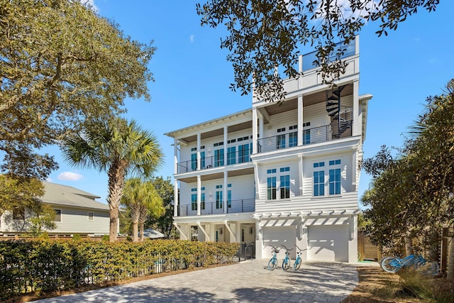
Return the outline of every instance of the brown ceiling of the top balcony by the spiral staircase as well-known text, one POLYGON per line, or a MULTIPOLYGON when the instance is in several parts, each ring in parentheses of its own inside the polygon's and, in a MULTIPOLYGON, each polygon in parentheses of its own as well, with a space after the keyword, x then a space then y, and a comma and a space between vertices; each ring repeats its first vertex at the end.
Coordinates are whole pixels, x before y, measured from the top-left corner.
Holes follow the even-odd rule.
MULTIPOLYGON (((331 89, 328 91, 328 94, 331 95, 331 89)), ((345 97, 350 94, 353 94, 353 84, 348 84, 347 87, 343 89, 343 91, 341 92, 341 97, 345 97)), ((314 94, 306 94, 303 97, 304 107, 325 101, 326 91, 316 92, 314 94)), ((285 100, 281 104, 275 103, 270 106, 265 106, 265 109, 270 116, 283 113, 284 111, 292 111, 297 108, 298 108, 297 98, 285 100)))

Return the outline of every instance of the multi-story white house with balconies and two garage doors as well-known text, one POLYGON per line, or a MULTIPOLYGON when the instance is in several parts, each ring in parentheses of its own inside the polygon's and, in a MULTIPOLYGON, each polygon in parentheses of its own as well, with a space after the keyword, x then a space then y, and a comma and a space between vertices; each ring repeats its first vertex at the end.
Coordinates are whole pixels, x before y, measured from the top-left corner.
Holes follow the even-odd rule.
MULTIPOLYGON (((174 224, 182 239, 305 249, 303 260, 357 261, 358 184, 367 102, 358 94, 358 38, 335 86, 313 59, 287 79, 286 100, 166 133, 175 145, 174 224)), ((295 249, 290 252, 295 258, 295 249)), ((284 250, 280 255, 283 256, 284 250)))

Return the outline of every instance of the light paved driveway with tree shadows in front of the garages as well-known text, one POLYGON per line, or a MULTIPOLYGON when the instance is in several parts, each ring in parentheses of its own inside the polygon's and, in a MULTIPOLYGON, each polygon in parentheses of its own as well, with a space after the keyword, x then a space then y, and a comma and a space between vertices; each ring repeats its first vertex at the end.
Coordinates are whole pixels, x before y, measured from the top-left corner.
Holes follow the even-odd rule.
POLYGON ((358 285, 355 265, 303 263, 298 271, 251 260, 37 302, 329 302, 358 285))

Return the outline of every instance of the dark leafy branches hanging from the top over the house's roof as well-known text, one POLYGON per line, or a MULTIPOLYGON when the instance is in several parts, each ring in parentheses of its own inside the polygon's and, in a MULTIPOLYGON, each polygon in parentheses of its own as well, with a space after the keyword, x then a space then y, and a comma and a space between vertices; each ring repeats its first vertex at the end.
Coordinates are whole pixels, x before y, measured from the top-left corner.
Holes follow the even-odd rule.
POLYGON ((323 79, 335 79, 345 70, 338 62, 344 49, 368 21, 380 20, 378 35, 395 30, 418 9, 433 11, 439 0, 207 0, 197 4, 201 24, 223 24, 228 35, 221 48, 230 51, 235 82, 231 89, 248 94, 253 85, 267 100, 284 98, 282 79, 298 75, 301 45, 316 48, 323 79), (334 60, 333 60, 334 59, 334 60), (254 77, 254 83, 252 76, 254 77))

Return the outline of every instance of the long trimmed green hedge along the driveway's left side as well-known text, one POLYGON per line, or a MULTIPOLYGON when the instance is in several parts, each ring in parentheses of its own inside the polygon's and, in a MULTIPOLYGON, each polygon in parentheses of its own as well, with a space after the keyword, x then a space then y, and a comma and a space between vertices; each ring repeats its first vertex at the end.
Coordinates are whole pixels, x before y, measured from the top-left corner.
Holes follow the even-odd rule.
MULTIPOLYGON (((238 243, 155 240, 0 242, 0 301, 18 294, 233 262, 238 243)), ((238 260, 238 259, 236 259, 238 260)))

